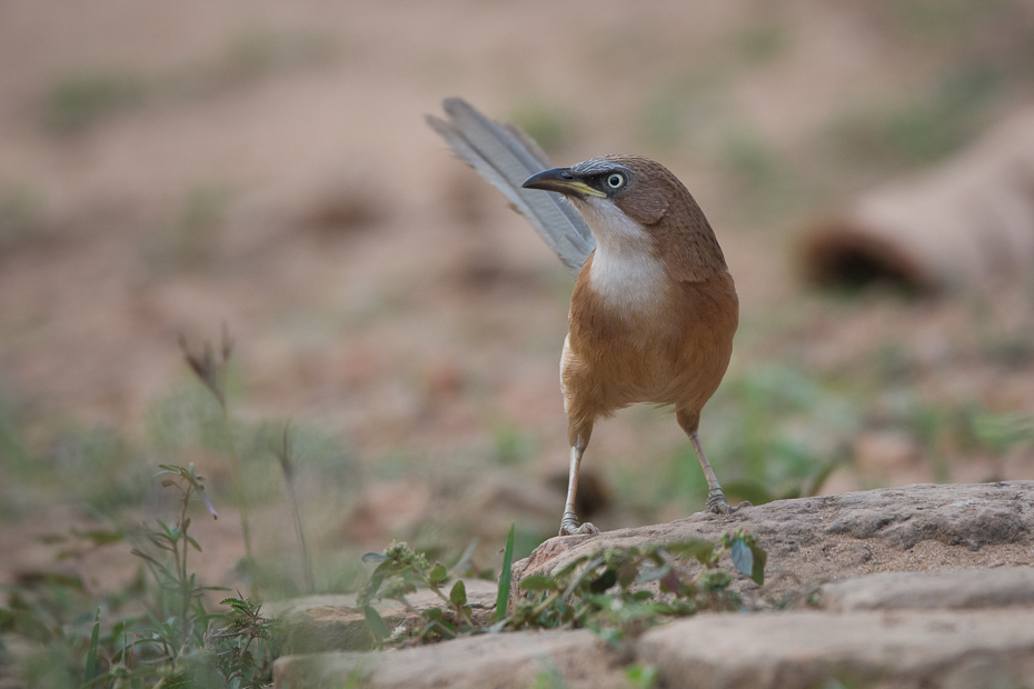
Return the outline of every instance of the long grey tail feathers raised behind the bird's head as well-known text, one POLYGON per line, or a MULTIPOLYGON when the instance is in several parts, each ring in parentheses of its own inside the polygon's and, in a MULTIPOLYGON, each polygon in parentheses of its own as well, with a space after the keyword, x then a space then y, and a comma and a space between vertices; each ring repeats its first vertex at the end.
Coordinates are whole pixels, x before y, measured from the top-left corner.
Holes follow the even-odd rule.
POLYGON ((569 202, 553 191, 521 189, 536 172, 554 164, 535 141, 513 124, 494 122, 461 98, 443 101, 448 119, 427 116, 427 123, 453 151, 506 194, 575 273, 596 248, 589 227, 569 202))

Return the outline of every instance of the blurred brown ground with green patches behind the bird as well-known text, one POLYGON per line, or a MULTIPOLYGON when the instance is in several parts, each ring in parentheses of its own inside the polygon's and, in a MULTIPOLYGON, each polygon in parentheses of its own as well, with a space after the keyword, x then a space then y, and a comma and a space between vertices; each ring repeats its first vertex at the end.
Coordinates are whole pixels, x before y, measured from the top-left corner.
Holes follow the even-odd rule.
MULTIPOLYGON (((1030 270, 845 282, 802 249, 1024 111, 1032 2, 7 0, 0 66, 0 582, 127 586, 129 546, 84 535, 173 519, 153 475, 195 462, 192 567, 240 586, 222 409, 178 344, 223 323, 269 596, 305 588, 288 421, 317 590, 392 539, 498 571, 510 523, 518 557, 555 535, 571 280, 425 124, 448 96, 693 191, 742 302, 702 421, 730 499, 1034 478, 1030 270)), ((663 410, 598 425, 586 471, 604 529, 705 498, 663 410)))

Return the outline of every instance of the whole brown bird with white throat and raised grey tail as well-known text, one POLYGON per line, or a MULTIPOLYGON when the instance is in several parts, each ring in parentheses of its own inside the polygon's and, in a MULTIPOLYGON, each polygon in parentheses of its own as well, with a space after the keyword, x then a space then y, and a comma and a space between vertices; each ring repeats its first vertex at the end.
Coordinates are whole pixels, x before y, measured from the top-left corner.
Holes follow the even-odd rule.
POLYGON ((699 204, 663 164, 607 154, 570 167, 519 128, 460 98, 427 122, 503 191, 576 276, 560 390, 570 446, 559 536, 599 533, 575 511, 583 456, 600 419, 635 403, 672 406, 707 480, 705 508, 750 507, 725 498, 699 439, 700 410, 733 352, 739 299, 699 204))

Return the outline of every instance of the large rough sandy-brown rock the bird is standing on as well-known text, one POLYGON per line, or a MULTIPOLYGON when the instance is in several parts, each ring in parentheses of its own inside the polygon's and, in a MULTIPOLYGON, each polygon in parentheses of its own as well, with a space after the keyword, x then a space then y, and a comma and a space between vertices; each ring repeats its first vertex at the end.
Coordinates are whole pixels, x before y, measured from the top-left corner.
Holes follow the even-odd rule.
POLYGON ((514 581, 551 573, 601 548, 716 540, 739 528, 754 533, 768 552, 769 593, 878 571, 1034 565, 1032 505, 1034 481, 919 485, 778 500, 730 516, 697 512, 666 525, 553 538, 514 566, 514 581))

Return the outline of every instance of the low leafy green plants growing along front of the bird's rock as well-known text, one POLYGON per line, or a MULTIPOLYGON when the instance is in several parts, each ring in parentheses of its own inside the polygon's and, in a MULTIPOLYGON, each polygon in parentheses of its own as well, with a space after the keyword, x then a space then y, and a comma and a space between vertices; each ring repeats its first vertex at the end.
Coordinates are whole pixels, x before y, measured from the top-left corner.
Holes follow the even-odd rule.
MULTIPOLYGON (((644 548, 605 549, 568 562, 555 575, 533 575, 519 582, 525 597, 509 606, 510 580, 499 578, 496 611, 489 620, 475 619, 467 603, 463 580, 444 587, 448 570, 440 562, 431 566, 422 555, 397 543, 368 560, 377 568, 360 592, 357 606, 379 645, 404 641, 449 639, 460 635, 506 629, 553 629, 587 627, 610 643, 618 643, 665 619, 695 615, 702 610, 735 610, 742 606, 729 589, 733 576, 718 567, 728 552, 734 567, 759 586, 764 583, 766 553, 754 536, 743 530, 723 533, 718 543, 692 540, 655 543, 644 548), (678 557, 694 558, 700 569, 689 575, 678 557), (650 590, 656 585, 657 591, 650 590), (406 596, 424 586, 435 591, 444 606, 421 612, 424 626, 411 639, 392 635, 374 608, 376 599, 387 598, 410 607, 406 596), (446 615, 448 612, 448 615, 446 615)), ((504 560, 513 557, 513 529, 504 560)), ((504 571, 508 571, 506 568, 504 571)))

